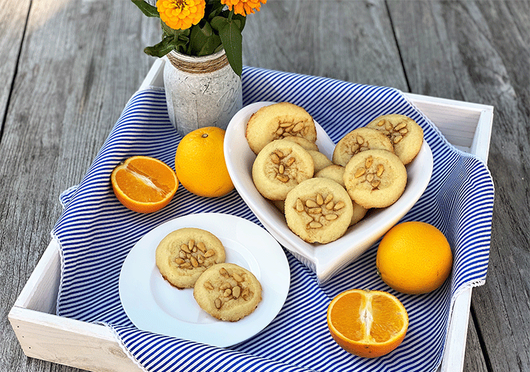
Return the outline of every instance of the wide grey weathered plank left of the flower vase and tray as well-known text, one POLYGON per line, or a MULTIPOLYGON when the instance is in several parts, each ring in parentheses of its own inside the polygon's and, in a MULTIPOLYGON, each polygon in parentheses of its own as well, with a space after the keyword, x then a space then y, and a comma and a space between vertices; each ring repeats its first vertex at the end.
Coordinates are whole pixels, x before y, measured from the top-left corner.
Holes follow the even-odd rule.
POLYGON ((158 27, 131 1, 32 2, 0 144, 0 371, 75 371, 26 358, 7 313, 49 243, 60 192, 81 181, 153 64, 143 47, 158 27))

